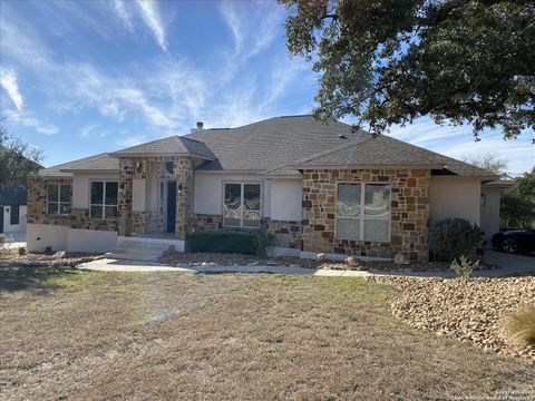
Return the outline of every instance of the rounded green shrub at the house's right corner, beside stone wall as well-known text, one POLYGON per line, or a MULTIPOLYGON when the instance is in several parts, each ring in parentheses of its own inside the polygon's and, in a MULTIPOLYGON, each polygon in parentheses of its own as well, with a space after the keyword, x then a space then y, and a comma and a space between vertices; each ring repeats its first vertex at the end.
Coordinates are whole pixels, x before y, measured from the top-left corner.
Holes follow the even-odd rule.
POLYGON ((453 262, 460 256, 475 261, 484 239, 479 227, 464 218, 446 218, 429 228, 429 251, 436 261, 453 262))

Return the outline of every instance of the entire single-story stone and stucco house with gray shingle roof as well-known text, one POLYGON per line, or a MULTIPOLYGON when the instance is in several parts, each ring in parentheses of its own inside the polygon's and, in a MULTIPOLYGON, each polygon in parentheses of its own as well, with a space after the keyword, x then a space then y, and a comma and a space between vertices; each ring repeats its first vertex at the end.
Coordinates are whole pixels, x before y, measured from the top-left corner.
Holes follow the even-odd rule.
MULTIPOLYGON (((202 129, 40 172, 28 248, 109 251, 125 237, 262 229, 279 254, 428 260, 429 224, 481 224, 487 170, 311 116, 202 129)), ((494 218, 494 217, 493 217, 494 218)), ((497 218, 497 217, 496 217, 497 218)))

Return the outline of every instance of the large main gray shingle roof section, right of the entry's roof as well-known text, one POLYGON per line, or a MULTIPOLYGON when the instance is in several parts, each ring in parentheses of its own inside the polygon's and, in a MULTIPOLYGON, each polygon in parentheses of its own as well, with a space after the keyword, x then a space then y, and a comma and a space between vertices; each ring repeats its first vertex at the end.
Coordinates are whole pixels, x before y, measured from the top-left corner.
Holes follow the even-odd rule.
MULTIPOLYGON (((380 135, 351 130, 312 116, 275 117, 247 126, 204 129, 187 137, 204 141, 217 157, 201 170, 249 170, 265 175, 296 175, 304 166, 421 165, 446 166, 450 174, 493 175, 481 168, 380 135), (346 136, 346 139, 339 138, 346 136)), ((429 167, 430 168, 430 167, 429 167)))

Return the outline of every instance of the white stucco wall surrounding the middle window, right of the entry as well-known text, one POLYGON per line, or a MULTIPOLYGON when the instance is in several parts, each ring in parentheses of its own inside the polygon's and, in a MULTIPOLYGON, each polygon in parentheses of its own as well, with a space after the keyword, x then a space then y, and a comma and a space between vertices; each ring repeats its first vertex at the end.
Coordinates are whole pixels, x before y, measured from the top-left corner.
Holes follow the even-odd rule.
POLYGON ((193 213, 223 214, 223 183, 262 183, 262 217, 271 216, 271 180, 255 175, 194 173, 193 213))

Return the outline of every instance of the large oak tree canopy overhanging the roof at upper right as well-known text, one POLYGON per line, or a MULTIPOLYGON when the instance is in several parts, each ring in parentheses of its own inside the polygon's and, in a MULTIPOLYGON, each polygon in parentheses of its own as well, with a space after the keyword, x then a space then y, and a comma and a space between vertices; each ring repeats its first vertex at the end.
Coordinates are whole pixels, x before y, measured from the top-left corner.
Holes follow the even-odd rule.
POLYGON ((429 116, 515 138, 535 129, 535 3, 279 0, 291 53, 320 75, 315 115, 373 131, 429 116))

